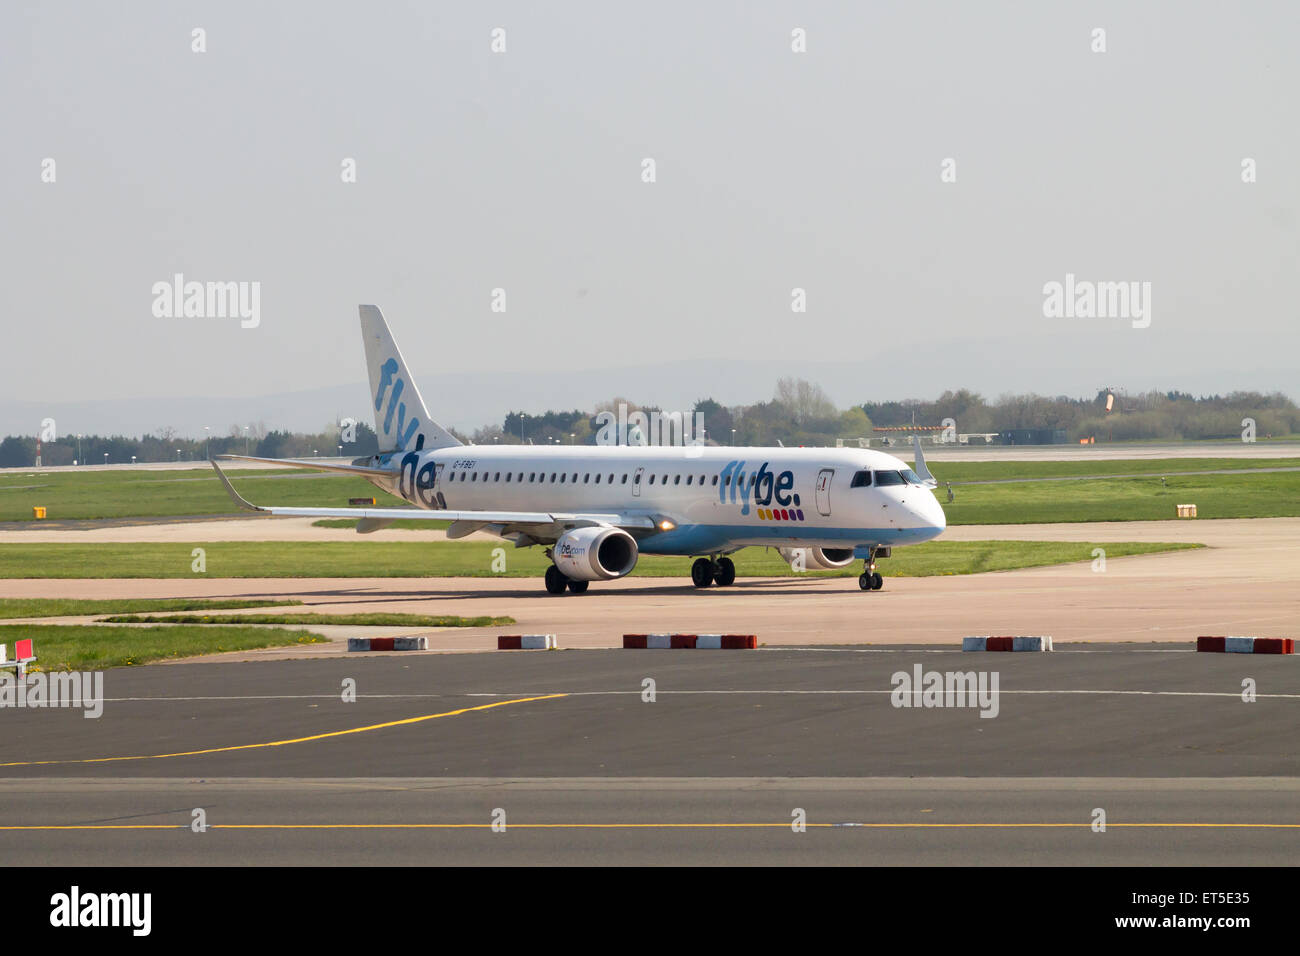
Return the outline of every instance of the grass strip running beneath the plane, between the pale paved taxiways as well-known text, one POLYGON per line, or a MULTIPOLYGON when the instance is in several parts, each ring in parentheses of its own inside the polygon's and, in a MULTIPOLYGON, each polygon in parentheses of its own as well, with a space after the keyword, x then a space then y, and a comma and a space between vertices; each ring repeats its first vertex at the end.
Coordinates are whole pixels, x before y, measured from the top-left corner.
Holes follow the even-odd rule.
MULTIPOLYGON (((194 544, 0 544, 0 578, 541 578, 547 559, 540 548, 506 548, 504 574, 494 574, 490 541, 252 541, 199 545, 207 572, 190 570, 194 544)), ((1005 571, 1091 561, 1093 548, 1109 558, 1200 548, 1171 542, 931 541, 900 548, 880 562, 887 576, 1005 571)), ((736 555, 741 576, 783 576, 790 570, 775 550, 749 548, 736 555)), ((844 571, 857 575, 861 562, 844 571)), ((636 576, 681 576, 689 558, 642 555, 636 576)))

